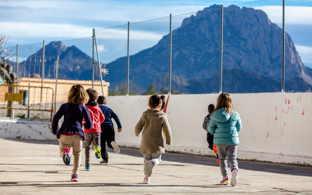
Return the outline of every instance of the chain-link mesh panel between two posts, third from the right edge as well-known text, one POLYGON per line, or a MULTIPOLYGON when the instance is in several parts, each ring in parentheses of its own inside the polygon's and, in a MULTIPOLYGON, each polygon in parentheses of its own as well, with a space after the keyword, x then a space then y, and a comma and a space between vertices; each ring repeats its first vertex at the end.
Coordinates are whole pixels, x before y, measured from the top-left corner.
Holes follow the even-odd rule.
POLYGON ((172 17, 172 93, 219 92, 220 6, 172 17))

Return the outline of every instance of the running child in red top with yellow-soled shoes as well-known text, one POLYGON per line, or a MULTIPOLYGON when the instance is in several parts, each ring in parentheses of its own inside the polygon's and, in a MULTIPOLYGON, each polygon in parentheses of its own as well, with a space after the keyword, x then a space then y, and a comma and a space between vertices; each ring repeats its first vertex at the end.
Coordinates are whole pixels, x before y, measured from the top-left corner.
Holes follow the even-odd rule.
POLYGON ((90 171, 90 151, 91 143, 95 150, 95 157, 101 157, 100 145, 101 145, 101 123, 104 121, 104 115, 101 109, 97 106, 96 100, 99 97, 97 91, 92 88, 86 90, 89 95, 89 102, 85 105, 89 111, 93 126, 90 129, 85 129, 85 170, 90 171))

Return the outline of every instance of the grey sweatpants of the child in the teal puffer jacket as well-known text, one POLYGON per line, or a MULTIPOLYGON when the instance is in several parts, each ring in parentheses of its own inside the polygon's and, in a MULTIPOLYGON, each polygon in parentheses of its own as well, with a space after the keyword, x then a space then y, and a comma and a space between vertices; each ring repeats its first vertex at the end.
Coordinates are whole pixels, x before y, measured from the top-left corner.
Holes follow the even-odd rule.
POLYGON ((217 144, 217 151, 219 156, 219 166, 221 169, 221 174, 223 178, 229 176, 228 168, 227 168, 227 161, 229 162, 231 171, 236 169, 238 171, 238 164, 237 164, 237 145, 219 145, 217 144))

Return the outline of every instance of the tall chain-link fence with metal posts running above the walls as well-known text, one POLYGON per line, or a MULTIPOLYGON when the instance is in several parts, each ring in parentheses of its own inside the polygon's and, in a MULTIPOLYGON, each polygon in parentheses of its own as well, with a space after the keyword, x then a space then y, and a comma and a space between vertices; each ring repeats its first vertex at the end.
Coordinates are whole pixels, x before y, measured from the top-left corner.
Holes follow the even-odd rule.
POLYGON ((19 45, 18 70, 14 46, 7 62, 19 77, 54 79, 60 55, 58 78, 102 75, 109 95, 311 91, 311 11, 308 0, 213 5, 45 42, 44 59, 42 42, 19 45))

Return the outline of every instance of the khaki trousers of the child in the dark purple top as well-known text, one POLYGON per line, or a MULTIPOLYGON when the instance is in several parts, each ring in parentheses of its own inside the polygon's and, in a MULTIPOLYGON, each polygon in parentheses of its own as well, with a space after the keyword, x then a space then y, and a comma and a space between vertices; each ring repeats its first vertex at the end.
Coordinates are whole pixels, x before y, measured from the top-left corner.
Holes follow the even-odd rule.
POLYGON ((74 156, 74 166, 72 174, 79 173, 80 160, 81 160, 81 151, 82 151, 82 137, 80 135, 65 136, 60 135, 60 156, 63 158, 63 149, 71 149, 73 146, 73 156, 74 156))

